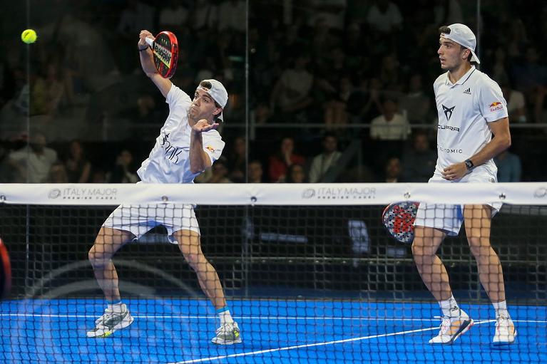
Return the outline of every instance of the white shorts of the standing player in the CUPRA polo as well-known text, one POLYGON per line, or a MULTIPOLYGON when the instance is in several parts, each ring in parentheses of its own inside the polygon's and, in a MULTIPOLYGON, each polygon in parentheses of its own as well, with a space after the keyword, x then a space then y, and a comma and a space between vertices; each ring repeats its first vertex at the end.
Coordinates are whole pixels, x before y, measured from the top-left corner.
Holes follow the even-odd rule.
MULTIPOLYGON (((497 182, 496 175, 486 170, 474 170, 469 175, 465 175, 459 182, 451 182, 444 180, 439 174, 434 174, 429 179, 428 183, 468 183, 468 182, 497 182)), ((489 204, 492 208, 492 216, 499 209, 501 203, 489 204)), ((457 236, 461 228, 461 223, 464 222, 464 205, 463 204, 420 204, 418 212, 416 212, 416 220, 414 226, 433 227, 441 229, 449 236, 457 236)))

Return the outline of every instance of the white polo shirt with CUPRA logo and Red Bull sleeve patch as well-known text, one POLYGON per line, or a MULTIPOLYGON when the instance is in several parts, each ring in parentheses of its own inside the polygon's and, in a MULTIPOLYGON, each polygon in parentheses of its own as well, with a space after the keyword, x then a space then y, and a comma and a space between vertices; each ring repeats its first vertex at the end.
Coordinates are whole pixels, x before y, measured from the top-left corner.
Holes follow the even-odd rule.
MULTIPOLYGON (((490 142, 492 132, 488 123, 507 117, 507 103, 499 85, 474 66, 454 84, 448 72, 442 74, 433 88, 439 113, 437 175, 449 165, 473 156, 490 142)), ((494 160, 474 169, 474 172, 480 171, 495 176, 494 160)))

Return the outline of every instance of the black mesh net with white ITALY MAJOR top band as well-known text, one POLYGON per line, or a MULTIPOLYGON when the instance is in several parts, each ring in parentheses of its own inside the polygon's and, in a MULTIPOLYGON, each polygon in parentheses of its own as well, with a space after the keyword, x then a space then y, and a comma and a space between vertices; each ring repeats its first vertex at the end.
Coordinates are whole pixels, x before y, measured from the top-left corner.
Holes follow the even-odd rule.
POLYGON ((0 238, 12 284, 0 303, 1 327, 9 333, 0 339, 1 361, 422 363, 464 355, 483 363, 545 362, 543 185, 499 184, 492 191, 469 184, 454 194, 426 184, 326 186, 240 185, 220 192, 199 185, 2 185, 0 238), (446 237, 437 255, 475 326, 443 350, 428 343, 439 333, 436 316, 443 312, 416 269, 411 246, 390 237, 382 224, 386 204, 405 196, 447 204, 503 200, 491 242, 518 330, 513 345, 492 345, 496 313, 464 228, 446 237), (89 254, 103 222, 120 203, 141 210, 148 204, 152 221, 175 214, 179 202, 198 204, 201 248, 218 273, 242 343, 210 343, 220 320, 198 283, 203 268, 192 267, 193 258, 170 244, 169 226, 140 220, 150 231, 113 256, 134 321, 104 340, 88 338, 106 308, 89 254))

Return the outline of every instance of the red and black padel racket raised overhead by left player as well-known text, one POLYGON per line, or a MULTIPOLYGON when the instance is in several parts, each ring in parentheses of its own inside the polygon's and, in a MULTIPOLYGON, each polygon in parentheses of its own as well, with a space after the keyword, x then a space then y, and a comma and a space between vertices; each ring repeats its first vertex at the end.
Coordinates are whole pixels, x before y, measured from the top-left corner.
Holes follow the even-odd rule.
POLYGON ((177 70, 178 41, 175 34, 162 31, 155 39, 146 38, 146 43, 152 48, 155 68, 163 78, 171 78, 177 70))

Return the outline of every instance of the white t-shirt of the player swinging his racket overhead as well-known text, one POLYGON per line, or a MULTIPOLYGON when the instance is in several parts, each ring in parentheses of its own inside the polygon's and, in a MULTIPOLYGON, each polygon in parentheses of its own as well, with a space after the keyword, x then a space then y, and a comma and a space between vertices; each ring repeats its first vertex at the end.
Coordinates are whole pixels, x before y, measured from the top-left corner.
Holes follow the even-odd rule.
MULTIPOLYGON (((144 183, 193 183, 200 173, 190 172, 190 132, 188 110, 192 100, 183 90, 171 86, 165 102, 169 104, 169 115, 155 139, 155 145, 148 158, 137 171, 144 183)), ((224 149, 224 142, 217 130, 203 132, 203 150, 211 158, 211 164, 218 160, 224 149)))

